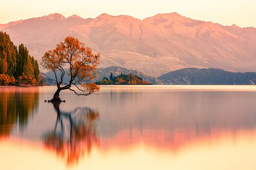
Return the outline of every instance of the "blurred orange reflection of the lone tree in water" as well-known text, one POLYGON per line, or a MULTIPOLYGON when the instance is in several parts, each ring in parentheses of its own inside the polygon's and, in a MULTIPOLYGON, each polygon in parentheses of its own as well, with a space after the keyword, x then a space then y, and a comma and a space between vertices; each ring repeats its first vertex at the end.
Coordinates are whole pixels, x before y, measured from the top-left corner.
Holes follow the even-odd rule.
POLYGON ((78 162, 81 156, 90 154, 92 146, 98 145, 96 120, 99 112, 88 107, 78 107, 63 112, 59 104, 53 104, 57 118, 53 131, 44 135, 45 147, 66 159, 67 164, 78 162))

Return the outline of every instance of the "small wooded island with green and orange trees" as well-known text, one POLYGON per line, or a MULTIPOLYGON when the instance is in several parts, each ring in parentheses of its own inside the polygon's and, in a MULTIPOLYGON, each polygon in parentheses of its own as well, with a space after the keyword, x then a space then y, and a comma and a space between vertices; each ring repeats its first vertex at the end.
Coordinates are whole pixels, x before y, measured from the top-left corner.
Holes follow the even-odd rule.
POLYGON ((113 76, 112 72, 110 78, 103 77, 101 81, 97 81, 98 85, 151 85, 150 82, 144 81, 141 77, 133 74, 120 74, 113 76))

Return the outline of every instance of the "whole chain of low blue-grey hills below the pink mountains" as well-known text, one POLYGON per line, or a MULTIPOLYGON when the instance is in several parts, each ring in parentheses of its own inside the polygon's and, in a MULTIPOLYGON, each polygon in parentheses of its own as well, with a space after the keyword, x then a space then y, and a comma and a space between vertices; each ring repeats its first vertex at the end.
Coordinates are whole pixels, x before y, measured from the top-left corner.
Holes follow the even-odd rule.
MULTIPOLYGON (((63 77, 63 84, 67 84, 70 77, 67 75, 69 70, 66 70, 66 75, 63 77)), ((110 74, 118 76, 121 73, 124 75, 133 74, 141 77, 144 81, 154 85, 255 85, 256 72, 230 72, 216 68, 183 68, 175 71, 170 71, 158 78, 154 78, 143 74, 137 70, 129 70, 119 66, 111 66, 106 68, 97 68, 97 79, 100 81, 103 77, 110 78, 110 74)), ((60 79, 61 73, 56 71, 57 77, 60 79)), ((41 73, 40 77, 45 80, 45 84, 54 85, 55 76, 53 71, 48 71, 45 74, 41 73)))

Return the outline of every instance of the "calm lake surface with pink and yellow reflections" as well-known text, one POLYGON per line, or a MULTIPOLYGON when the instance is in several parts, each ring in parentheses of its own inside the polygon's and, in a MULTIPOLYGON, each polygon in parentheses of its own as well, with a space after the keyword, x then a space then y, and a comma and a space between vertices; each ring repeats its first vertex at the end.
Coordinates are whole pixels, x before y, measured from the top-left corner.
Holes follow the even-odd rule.
POLYGON ((256 86, 0 87, 0 169, 256 169, 256 86))

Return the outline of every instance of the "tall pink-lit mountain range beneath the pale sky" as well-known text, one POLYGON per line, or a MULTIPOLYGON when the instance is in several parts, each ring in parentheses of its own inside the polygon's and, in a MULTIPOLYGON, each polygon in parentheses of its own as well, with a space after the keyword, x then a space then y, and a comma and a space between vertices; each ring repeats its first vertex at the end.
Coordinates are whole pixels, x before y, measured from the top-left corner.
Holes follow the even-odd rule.
POLYGON ((68 35, 102 55, 100 67, 121 66, 158 77, 185 67, 256 71, 256 29, 186 18, 177 13, 143 20, 101 14, 83 19, 61 14, 0 25, 15 44, 40 60, 68 35))

